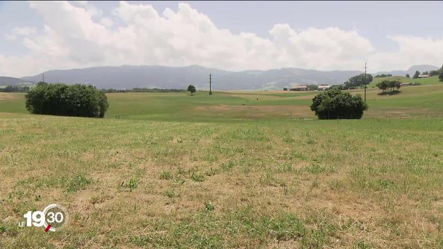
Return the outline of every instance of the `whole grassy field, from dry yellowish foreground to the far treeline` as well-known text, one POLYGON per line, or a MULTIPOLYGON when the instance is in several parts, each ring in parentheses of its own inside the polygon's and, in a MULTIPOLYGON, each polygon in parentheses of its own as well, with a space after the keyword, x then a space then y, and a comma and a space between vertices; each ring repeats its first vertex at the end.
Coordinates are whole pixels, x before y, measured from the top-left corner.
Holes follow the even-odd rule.
POLYGON ((443 84, 378 93, 362 120, 316 92, 111 93, 104 119, 0 93, 0 248, 442 248, 443 84), (51 203, 66 230, 18 227, 51 203))

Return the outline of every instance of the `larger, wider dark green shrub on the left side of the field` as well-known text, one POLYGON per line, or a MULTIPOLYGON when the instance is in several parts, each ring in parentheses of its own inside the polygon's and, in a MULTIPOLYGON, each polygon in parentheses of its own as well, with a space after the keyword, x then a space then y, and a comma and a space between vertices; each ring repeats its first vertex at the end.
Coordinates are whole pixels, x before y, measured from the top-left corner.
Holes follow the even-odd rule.
POLYGON ((39 82, 26 94, 26 109, 34 114, 103 118, 108 107, 105 93, 91 85, 39 82))

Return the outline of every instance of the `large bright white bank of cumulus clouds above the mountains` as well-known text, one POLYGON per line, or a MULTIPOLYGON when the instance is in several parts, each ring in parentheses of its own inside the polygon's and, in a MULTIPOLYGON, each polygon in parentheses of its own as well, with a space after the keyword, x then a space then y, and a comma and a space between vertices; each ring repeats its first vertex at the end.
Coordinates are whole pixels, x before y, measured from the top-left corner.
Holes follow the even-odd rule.
POLYGON ((381 54, 355 30, 337 27, 296 30, 289 24, 275 24, 269 38, 233 34, 187 3, 179 3, 177 12, 166 8, 159 13, 150 5, 121 1, 113 11, 116 22, 89 3, 31 1, 30 6, 44 17, 43 32, 35 35, 32 28, 12 31, 15 39, 19 33, 33 35, 20 38, 29 53, 0 55, 0 74, 24 76, 55 68, 122 64, 199 64, 233 71, 281 67, 347 70, 360 69, 368 58, 383 66, 397 55, 408 66, 412 59, 424 60, 427 55, 437 60, 433 51, 442 55, 443 48, 442 40, 392 37, 399 43, 399 51, 381 54))

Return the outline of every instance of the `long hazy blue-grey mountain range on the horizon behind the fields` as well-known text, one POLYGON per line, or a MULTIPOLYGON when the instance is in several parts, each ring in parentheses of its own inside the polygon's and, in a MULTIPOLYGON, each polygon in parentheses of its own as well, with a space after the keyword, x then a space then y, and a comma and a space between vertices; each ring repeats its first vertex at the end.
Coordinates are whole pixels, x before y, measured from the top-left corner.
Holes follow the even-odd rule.
MULTIPOLYGON (((267 71, 223 71, 203 66, 98 66, 44 72, 46 82, 93 84, 100 89, 132 89, 157 87, 184 89, 195 84, 208 89, 209 73, 213 75, 214 90, 282 89, 293 84, 342 84, 360 71, 316 71, 300 68, 267 71)), ((39 81, 41 75, 22 77, 39 81)))

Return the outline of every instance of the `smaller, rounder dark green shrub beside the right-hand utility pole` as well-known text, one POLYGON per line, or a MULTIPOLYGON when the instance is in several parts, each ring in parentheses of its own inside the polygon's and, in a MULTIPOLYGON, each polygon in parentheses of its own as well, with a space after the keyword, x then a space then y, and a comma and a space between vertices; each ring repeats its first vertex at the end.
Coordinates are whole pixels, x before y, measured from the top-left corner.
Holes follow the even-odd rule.
POLYGON ((329 89, 312 99, 311 111, 320 119, 360 119, 368 105, 361 95, 353 96, 339 89, 329 89))

